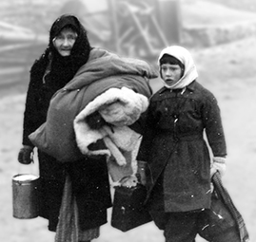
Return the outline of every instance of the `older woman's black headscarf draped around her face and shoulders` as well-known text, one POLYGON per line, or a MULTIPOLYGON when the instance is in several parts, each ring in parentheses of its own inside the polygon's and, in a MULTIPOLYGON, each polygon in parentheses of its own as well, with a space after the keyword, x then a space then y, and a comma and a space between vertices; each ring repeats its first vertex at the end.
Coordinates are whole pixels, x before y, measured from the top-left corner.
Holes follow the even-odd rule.
POLYGON ((57 18, 49 30, 49 46, 42 56, 48 63, 43 81, 50 82, 55 89, 69 83, 77 70, 88 62, 90 49, 87 30, 77 17, 64 14, 57 18), (63 28, 71 28, 77 33, 69 56, 61 56, 53 45, 53 39, 63 28))

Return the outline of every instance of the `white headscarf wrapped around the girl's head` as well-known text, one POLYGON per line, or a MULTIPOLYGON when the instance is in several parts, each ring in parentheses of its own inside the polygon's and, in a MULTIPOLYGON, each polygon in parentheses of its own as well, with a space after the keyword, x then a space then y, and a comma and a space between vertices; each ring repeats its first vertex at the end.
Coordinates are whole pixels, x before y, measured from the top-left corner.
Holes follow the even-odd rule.
POLYGON ((164 48, 161 51, 158 58, 158 65, 159 65, 160 71, 161 71, 160 60, 165 54, 171 55, 177 58, 183 65, 185 65, 184 74, 176 84, 168 85, 164 82, 164 80, 162 80, 163 84, 167 88, 182 89, 186 87, 188 84, 191 84, 198 77, 198 73, 197 73, 193 58, 185 47, 171 46, 171 47, 164 48))

